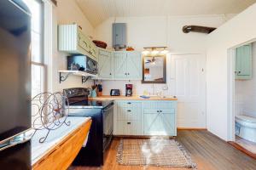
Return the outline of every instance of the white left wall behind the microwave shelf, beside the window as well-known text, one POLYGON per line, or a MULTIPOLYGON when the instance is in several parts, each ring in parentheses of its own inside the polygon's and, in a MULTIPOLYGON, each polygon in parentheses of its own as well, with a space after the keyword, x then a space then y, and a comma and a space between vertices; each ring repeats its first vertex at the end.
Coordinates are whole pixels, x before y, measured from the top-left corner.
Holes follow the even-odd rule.
POLYGON ((87 36, 94 36, 94 28, 84 16, 79 6, 73 0, 58 1, 58 6, 53 9, 53 58, 52 58, 52 86, 53 91, 61 91, 63 88, 88 87, 89 83, 82 84, 81 77, 69 76, 65 82, 59 83, 58 70, 67 70, 68 54, 61 53, 57 48, 57 25, 72 24, 76 22, 82 26, 87 36))

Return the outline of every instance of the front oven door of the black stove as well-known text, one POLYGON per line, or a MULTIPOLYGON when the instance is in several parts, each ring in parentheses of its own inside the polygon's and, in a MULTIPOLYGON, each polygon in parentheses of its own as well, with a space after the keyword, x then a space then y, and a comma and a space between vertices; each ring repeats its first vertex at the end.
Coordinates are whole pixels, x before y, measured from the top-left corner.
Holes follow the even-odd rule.
POLYGON ((108 149, 113 137, 113 103, 103 109, 103 151, 108 149))

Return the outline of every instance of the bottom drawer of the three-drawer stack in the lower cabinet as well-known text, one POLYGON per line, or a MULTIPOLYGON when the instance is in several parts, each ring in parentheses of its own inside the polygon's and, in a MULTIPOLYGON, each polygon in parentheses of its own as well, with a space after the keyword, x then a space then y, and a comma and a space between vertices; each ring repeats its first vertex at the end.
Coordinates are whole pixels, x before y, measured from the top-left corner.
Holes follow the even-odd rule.
POLYGON ((142 135, 142 123, 138 121, 118 121, 118 135, 142 135))

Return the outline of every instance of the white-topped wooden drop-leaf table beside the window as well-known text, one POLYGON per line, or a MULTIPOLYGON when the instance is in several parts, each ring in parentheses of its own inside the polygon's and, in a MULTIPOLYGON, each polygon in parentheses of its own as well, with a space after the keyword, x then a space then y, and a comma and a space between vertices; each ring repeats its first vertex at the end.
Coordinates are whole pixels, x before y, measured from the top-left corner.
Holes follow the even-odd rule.
POLYGON ((44 143, 39 139, 47 133, 38 131, 32 138, 32 169, 64 170, 78 155, 90 130, 90 117, 67 117, 70 126, 63 124, 50 131, 44 143))

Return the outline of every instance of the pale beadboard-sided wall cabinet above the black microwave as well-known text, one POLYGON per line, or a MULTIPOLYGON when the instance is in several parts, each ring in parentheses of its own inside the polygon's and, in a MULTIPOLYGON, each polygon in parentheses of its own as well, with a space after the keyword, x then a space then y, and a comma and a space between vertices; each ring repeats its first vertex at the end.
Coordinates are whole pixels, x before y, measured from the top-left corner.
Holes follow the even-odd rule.
POLYGON ((68 54, 84 54, 95 60, 98 58, 96 45, 77 24, 58 26, 58 49, 68 54))

